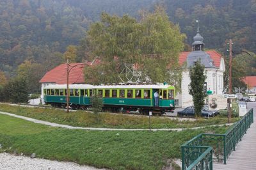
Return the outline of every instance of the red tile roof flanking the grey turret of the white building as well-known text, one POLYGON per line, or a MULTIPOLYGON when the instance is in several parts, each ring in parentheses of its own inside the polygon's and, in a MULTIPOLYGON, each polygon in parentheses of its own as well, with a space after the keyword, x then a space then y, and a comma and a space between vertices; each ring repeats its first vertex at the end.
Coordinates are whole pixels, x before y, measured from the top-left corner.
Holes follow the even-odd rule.
MULTIPOLYGON (((186 61, 188 54, 190 52, 181 52, 179 56, 179 64, 182 65, 184 61, 186 61)), ((220 61, 221 61, 221 55, 216 52, 215 50, 208 50, 206 51, 207 54, 211 57, 211 59, 214 61, 214 66, 220 67, 220 61)))

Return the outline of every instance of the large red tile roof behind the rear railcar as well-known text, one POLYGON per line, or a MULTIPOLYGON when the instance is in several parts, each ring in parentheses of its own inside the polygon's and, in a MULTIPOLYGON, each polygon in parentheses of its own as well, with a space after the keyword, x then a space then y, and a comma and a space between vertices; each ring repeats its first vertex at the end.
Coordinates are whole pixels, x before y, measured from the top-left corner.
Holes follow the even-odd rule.
MULTIPOLYGON (((70 63, 69 65, 76 67, 72 68, 69 73, 69 84, 75 83, 84 83, 84 74, 83 74, 83 63, 70 63), (81 65, 79 65, 81 64, 81 65)), ((90 65, 90 62, 87 62, 86 65, 90 65)), ((54 82, 56 84, 66 84, 67 83, 67 64, 62 64, 56 66, 49 72, 45 73, 44 77, 39 81, 43 82, 54 82)))

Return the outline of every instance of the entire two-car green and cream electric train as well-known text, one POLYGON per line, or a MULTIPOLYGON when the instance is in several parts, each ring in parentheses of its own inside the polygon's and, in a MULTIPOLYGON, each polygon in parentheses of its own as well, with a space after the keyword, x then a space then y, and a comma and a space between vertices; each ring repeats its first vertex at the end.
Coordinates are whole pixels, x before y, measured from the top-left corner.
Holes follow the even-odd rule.
MULTIPOLYGON (((67 85, 50 85, 44 89, 46 104, 54 107, 65 107, 67 85)), ((169 85, 112 85, 92 86, 90 84, 70 84, 70 107, 86 109, 90 97, 97 93, 103 100, 104 111, 137 112, 148 114, 149 111, 163 114, 175 109, 175 88, 169 85), (155 105, 154 93, 159 93, 158 105, 155 105)))

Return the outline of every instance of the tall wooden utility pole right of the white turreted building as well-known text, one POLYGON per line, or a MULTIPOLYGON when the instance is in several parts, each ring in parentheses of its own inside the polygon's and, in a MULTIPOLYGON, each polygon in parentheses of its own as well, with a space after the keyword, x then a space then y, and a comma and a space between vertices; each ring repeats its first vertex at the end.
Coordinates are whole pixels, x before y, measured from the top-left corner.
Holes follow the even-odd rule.
MULTIPOLYGON (((229 76, 228 76, 228 93, 232 94, 232 40, 229 39, 229 76)), ((228 98, 228 123, 231 122, 231 98, 228 98)))

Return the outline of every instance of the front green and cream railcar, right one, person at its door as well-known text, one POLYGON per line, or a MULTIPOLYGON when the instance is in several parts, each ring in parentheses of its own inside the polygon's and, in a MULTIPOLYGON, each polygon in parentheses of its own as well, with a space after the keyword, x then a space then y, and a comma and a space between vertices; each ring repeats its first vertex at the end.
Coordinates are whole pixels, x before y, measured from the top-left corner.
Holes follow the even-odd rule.
POLYGON ((122 108, 125 111, 173 111, 175 108, 175 88, 169 85, 115 85, 97 86, 97 94, 102 97, 104 107, 122 108), (158 102, 154 93, 158 92, 158 102))

